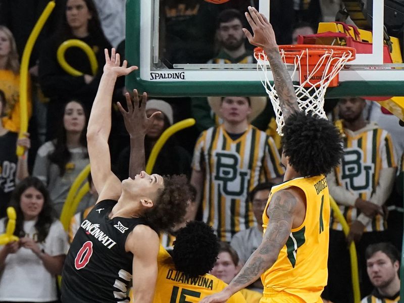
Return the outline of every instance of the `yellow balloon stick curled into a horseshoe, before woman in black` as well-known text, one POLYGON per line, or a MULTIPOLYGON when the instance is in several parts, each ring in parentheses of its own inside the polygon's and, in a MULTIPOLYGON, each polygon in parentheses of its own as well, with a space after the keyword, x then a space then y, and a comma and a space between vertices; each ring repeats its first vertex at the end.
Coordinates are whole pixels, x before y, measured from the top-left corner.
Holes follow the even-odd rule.
POLYGON ((68 73, 72 76, 79 77, 79 76, 83 75, 82 72, 71 67, 69 65, 69 63, 66 62, 65 53, 66 53, 67 49, 70 47, 78 47, 83 50, 83 52, 87 55, 88 60, 90 61, 91 72, 92 72, 92 75, 94 76, 98 71, 97 58, 95 57, 94 51, 91 49, 91 47, 87 43, 85 43, 79 39, 66 40, 59 46, 56 56, 58 58, 58 62, 60 64, 60 66, 65 70, 66 73, 68 73))

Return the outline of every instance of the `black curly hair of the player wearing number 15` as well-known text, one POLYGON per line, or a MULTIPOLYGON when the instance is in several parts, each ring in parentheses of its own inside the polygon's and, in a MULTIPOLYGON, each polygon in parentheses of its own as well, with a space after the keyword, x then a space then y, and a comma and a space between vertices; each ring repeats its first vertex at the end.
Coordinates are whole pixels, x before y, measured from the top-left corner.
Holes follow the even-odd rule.
POLYGON ((178 230, 172 258, 175 269, 194 278, 207 274, 215 265, 219 241, 212 227, 191 221, 178 230))

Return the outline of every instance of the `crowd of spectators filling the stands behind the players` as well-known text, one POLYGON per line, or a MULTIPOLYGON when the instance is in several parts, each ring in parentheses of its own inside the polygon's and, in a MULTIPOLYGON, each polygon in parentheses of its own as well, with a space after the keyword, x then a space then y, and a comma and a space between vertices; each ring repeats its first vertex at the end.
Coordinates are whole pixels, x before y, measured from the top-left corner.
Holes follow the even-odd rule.
MULTIPOLYGON (((0 302, 59 300, 56 276, 68 243, 98 197, 91 174, 90 191, 68 231, 58 219, 72 183, 89 164, 86 129, 103 72, 104 49, 118 47, 124 53, 125 2, 56 1, 31 56, 29 130, 19 138, 21 55, 48 0, 0 0, 0 233, 6 230, 6 209, 13 206, 15 235, 20 237, 19 242, 0 245, 0 302), (82 75, 72 76, 61 67, 57 50, 68 39, 90 46, 97 72, 75 47, 66 51, 65 59, 82 75), (19 157, 18 145, 25 150, 19 157)), ((258 7, 259 1, 232 0, 219 6, 202 0, 162 0, 162 64, 253 63, 242 31, 243 12, 251 4, 258 7)), ((336 0, 271 0, 270 20, 278 44, 295 43, 297 35, 313 33, 339 6, 336 0)), ((125 91, 124 81, 118 81, 113 101, 124 100, 125 91)), ((329 278, 323 298, 353 302, 347 246, 354 241, 363 302, 396 302, 403 233, 403 129, 398 118, 382 114, 376 102, 344 97, 329 104, 335 105, 329 106, 329 119, 341 130, 344 155, 327 176, 327 184, 350 229, 345 237, 331 214, 329 278)), ((186 221, 208 223, 221 241, 211 274, 229 283, 259 246, 271 187, 282 182, 285 172, 272 106, 266 97, 150 96, 146 114, 157 111, 162 115, 145 137, 146 162, 168 127, 184 118, 196 120, 193 128, 167 141, 153 169, 160 175, 186 175, 193 192, 184 224, 162 234, 162 245, 171 251, 186 221)), ((123 180, 129 176, 130 138, 115 106, 112 112, 111 159, 114 173, 123 180)), ((241 291, 246 302, 259 302, 262 287, 258 280, 241 291)))

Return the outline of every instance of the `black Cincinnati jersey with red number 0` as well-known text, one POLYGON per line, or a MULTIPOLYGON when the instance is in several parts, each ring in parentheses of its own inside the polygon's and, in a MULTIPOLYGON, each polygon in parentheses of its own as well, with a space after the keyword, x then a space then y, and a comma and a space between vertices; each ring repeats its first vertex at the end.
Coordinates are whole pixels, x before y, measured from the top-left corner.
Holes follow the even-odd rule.
POLYGON ((129 303, 133 254, 125 251, 128 234, 142 218, 110 219, 114 200, 100 201, 81 223, 62 272, 62 302, 129 303))

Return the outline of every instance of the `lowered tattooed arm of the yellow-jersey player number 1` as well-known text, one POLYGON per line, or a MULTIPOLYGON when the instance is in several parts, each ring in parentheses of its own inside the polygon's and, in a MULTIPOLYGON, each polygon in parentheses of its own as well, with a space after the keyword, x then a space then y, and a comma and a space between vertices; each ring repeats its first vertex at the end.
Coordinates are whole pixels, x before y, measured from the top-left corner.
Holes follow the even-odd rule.
POLYGON ((200 303, 226 302, 231 295, 255 282, 274 265, 290 235, 299 202, 298 194, 292 189, 280 190, 272 196, 267 210, 269 224, 260 246, 222 292, 206 297, 200 303))

